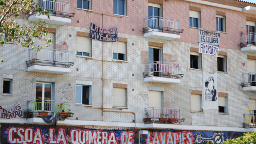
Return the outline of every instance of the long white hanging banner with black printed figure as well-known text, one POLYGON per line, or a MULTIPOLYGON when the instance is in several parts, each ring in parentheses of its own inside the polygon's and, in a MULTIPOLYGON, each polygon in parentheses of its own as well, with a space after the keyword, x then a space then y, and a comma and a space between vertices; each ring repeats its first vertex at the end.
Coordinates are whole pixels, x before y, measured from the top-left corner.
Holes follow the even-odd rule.
POLYGON ((203 73, 202 109, 218 109, 217 72, 203 73))

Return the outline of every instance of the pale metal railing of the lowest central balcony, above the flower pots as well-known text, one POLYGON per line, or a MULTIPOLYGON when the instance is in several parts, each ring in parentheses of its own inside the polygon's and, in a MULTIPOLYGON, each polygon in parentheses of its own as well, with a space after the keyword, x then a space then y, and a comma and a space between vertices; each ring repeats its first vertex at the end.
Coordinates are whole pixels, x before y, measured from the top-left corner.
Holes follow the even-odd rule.
POLYGON ((180 119, 180 109, 150 107, 146 108, 146 113, 148 118, 180 119))

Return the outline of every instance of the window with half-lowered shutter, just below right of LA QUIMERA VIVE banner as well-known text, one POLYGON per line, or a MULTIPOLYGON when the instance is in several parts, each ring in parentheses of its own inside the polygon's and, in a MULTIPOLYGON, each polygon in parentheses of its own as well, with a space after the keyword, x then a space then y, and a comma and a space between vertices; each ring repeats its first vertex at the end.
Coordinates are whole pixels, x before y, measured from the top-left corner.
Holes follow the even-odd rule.
POLYGON ((126 43, 117 42, 113 43, 113 59, 126 60, 126 43))

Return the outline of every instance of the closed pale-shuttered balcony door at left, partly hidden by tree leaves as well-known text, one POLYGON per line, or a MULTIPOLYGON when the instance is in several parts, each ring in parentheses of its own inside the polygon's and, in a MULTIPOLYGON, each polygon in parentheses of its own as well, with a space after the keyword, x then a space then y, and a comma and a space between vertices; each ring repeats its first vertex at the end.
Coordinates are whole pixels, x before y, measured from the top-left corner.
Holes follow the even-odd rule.
POLYGON ((46 42, 44 39, 38 39, 37 45, 42 46, 42 50, 37 52, 36 59, 37 65, 44 66, 54 66, 55 61, 55 34, 48 33, 45 39, 51 37, 53 43, 50 43, 50 46, 46 47, 46 42))

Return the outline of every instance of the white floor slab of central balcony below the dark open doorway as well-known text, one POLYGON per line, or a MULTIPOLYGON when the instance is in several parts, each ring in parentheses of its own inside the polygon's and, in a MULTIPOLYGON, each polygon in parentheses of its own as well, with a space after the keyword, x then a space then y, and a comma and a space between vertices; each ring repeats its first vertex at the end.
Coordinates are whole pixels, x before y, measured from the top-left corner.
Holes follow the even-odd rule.
POLYGON ((177 79, 177 78, 166 78, 166 77, 151 76, 151 77, 145 77, 144 82, 179 84, 181 82, 181 80, 177 79))

